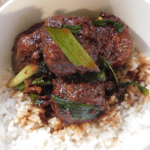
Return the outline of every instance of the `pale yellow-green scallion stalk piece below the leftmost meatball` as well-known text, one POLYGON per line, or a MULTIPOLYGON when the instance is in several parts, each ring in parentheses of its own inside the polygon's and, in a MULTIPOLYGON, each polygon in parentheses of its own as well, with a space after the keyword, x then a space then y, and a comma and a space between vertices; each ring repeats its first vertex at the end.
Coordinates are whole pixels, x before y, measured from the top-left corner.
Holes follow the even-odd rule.
POLYGON ((25 66, 10 82, 9 87, 15 87, 34 75, 39 69, 38 65, 29 64, 25 66))

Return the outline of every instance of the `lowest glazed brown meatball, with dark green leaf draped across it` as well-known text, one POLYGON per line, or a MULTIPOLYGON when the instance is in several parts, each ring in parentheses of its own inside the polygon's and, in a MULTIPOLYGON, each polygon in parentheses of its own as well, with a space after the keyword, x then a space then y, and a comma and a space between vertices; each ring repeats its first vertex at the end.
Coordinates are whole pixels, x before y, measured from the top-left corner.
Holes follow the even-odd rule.
MULTIPOLYGON (((105 86, 103 82, 86 83, 77 79, 71 80, 65 77, 57 77, 53 81, 52 94, 70 101, 94 105, 102 110, 106 109, 105 86)), ((87 121, 73 119, 71 118, 71 114, 61 113, 52 98, 51 106, 56 116, 68 124, 80 124, 87 121)))

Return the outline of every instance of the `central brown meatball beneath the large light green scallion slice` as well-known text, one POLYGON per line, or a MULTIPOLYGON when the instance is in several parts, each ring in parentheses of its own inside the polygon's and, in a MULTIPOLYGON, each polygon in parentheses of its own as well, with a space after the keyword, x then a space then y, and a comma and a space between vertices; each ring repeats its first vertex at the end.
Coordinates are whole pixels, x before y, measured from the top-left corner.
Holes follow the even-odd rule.
MULTIPOLYGON (((48 20, 45 22, 45 26, 60 27, 64 24, 83 26, 87 25, 88 21, 89 19, 87 17, 71 17, 58 15, 48 18, 48 20)), ((95 39, 91 37, 85 37, 82 34, 77 34, 74 36, 86 50, 89 56, 93 59, 93 61, 96 62, 98 49, 95 39)), ((84 73, 85 71, 91 71, 85 68, 76 69, 46 31, 43 38, 42 50, 44 61, 56 76, 67 76, 72 75, 76 72, 84 73)))

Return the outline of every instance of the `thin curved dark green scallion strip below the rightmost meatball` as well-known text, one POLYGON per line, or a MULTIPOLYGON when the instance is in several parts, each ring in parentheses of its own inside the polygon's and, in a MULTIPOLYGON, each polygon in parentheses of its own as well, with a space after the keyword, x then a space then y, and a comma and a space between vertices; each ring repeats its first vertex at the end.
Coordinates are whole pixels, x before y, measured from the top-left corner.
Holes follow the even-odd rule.
POLYGON ((99 65, 101 67, 111 70, 111 72, 113 73, 113 76, 114 76, 114 78, 116 80, 116 83, 118 83, 117 76, 116 76, 114 70, 112 69, 112 67, 110 66, 110 64, 101 56, 98 57, 97 62, 99 63, 99 65))

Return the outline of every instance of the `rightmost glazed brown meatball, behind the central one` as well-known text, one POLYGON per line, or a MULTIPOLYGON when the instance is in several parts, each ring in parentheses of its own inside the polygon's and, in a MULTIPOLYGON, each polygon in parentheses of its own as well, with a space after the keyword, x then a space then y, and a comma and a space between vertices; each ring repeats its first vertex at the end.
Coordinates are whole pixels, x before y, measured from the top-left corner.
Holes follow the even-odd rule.
MULTIPOLYGON (((106 13, 100 13, 103 19, 110 19, 118 23, 122 21, 106 13)), ((122 33, 118 33, 113 25, 107 27, 97 27, 97 42, 102 43, 99 47, 100 55, 103 56, 113 68, 124 65, 131 55, 133 40, 129 32, 129 28, 124 24, 122 33), (102 37, 102 38, 101 38, 102 37)))

